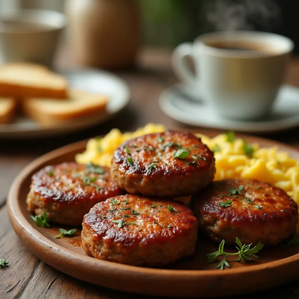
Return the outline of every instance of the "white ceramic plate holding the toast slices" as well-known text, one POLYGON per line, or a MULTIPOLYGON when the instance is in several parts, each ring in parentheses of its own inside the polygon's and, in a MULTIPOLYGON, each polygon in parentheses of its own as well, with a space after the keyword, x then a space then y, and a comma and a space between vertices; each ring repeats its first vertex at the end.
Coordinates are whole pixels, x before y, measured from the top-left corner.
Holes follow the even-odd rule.
POLYGON ((83 117, 64 123, 63 126, 43 127, 27 117, 17 117, 13 123, 0 125, 0 137, 33 138, 60 135, 103 123, 120 112, 130 99, 129 86, 119 77, 93 69, 62 73, 71 87, 109 96, 107 113, 83 117))

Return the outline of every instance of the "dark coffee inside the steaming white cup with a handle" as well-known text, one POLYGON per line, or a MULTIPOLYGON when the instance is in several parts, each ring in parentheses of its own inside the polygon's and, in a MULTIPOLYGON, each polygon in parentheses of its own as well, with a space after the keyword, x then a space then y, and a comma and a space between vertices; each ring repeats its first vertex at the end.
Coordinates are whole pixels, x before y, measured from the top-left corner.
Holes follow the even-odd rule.
POLYGON ((247 41, 213 41, 206 42, 206 45, 223 49, 223 50, 233 50, 233 51, 258 51, 273 53, 276 52, 275 48, 269 44, 259 43, 259 42, 247 42, 247 41))

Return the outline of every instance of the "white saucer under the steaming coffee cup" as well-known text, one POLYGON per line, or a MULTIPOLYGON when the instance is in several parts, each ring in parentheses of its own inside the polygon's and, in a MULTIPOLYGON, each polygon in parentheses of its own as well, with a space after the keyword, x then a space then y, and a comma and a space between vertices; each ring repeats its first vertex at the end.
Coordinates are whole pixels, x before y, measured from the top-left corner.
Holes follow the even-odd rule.
POLYGON ((263 120, 228 120, 215 115, 203 100, 179 83, 163 91, 159 98, 162 111, 169 117, 192 126, 250 133, 282 131, 299 126, 299 88, 282 85, 270 115, 263 120))

